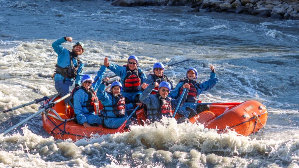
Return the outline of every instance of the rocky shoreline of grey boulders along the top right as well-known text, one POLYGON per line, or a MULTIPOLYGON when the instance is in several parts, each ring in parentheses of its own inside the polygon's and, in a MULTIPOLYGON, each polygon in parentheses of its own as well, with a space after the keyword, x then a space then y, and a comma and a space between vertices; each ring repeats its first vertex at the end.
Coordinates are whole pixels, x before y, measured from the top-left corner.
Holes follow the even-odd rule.
MULTIPOLYGON (((111 1, 111 0, 108 0, 111 1)), ((115 6, 190 6, 189 12, 225 12, 299 20, 299 0, 114 0, 115 6)))

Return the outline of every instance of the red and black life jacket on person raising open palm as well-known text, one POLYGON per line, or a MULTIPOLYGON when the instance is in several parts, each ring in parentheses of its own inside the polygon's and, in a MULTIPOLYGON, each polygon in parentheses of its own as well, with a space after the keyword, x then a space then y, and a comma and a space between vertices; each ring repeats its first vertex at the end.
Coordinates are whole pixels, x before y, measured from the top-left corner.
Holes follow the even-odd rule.
POLYGON ((123 65, 126 67, 126 77, 123 79, 123 90, 125 92, 134 92, 138 91, 138 87, 141 85, 141 74, 138 69, 134 69, 131 71, 127 65, 123 65))

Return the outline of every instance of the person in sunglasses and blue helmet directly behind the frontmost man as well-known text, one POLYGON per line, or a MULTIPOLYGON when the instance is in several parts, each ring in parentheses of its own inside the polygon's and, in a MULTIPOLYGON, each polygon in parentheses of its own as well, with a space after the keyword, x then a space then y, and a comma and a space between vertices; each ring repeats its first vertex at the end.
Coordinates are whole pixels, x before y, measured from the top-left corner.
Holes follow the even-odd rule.
MULTIPOLYGON (((162 81, 166 81, 170 83, 171 90, 173 89, 173 81, 169 80, 166 75, 163 74, 164 72, 164 65, 161 62, 157 62, 153 66, 153 72, 152 74, 149 74, 147 76, 147 79, 144 81, 144 83, 139 87, 139 90, 143 91, 150 83, 155 83, 154 90, 158 91, 159 84, 162 81)), ((152 94, 156 94, 156 91, 152 91, 152 94)))

